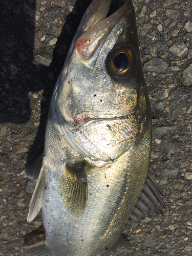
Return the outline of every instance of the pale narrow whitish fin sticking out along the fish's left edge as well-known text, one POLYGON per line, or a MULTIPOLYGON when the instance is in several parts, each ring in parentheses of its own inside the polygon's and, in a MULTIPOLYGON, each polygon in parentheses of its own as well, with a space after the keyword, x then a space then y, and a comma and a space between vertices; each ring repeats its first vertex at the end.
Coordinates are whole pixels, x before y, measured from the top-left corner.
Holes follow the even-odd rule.
POLYGON ((42 206, 42 193, 45 188, 45 172, 44 167, 40 169, 40 174, 35 186, 35 190, 33 192, 31 202, 29 205, 29 213, 27 216, 27 221, 32 221, 35 216, 38 214, 41 206, 42 206))

